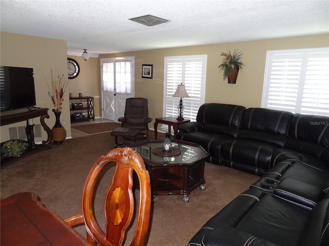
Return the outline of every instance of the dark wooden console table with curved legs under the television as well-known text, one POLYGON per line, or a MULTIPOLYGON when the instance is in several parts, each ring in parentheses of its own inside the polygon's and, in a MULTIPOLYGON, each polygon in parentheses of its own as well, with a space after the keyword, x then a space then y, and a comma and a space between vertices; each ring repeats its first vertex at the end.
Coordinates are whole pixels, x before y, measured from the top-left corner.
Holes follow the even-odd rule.
POLYGON ((29 126, 29 119, 40 117, 40 122, 43 129, 47 132, 47 140, 42 141, 42 145, 49 145, 52 141, 52 132, 51 129, 46 125, 45 118, 49 119, 47 108, 22 108, 3 111, 0 113, 0 123, 1 126, 13 124, 16 122, 26 120, 26 136, 28 144, 31 148, 36 148, 34 143, 34 132, 33 125, 29 126))

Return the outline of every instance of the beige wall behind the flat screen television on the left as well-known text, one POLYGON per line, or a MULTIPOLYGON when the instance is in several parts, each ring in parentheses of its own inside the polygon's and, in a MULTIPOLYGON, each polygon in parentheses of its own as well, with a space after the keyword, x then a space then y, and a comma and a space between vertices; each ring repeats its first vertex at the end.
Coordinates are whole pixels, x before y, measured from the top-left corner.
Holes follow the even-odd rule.
MULTIPOLYGON (((27 67, 33 68, 36 107, 48 108, 49 119, 45 122, 51 129, 55 122, 55 117, 51 100, 48 96, 46 79, 49 78, 51 70, 58 70, 67 74, 67 48, 66 42, 42 37, 32 37, 1 32, 1 66, 27 67)), ((65 121, 67 136, 71 136, 70 114, 68 107, 68 90, 64 95, 64 104, 61 114, 61 121, 65 121)), ((34 124, 40 124, 40 119, 35 118, 34 124)), ((13 126, 25 126, 26 122, 18 122, 1 127, 1 142, 9 140, 8 128, 13 126)), ((47 134, 43 131, 42 138, 35 138, 35 142, 47 139, 47 134)))

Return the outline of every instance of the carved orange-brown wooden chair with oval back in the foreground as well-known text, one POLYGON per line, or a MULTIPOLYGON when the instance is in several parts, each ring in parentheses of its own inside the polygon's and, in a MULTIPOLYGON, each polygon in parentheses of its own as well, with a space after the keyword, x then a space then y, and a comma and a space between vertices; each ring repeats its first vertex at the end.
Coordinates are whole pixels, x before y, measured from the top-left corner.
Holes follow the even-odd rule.
POLYGON ((151 188, 149 172, 141 156, 131 148, 117 148, 101 156, 86 179, 82 194, 82 214, 65 221, 75 227, 85 224, 87 240, 93 245, 122 245, 126 229, 134 214, 133 171, 139 181, 139 207, 136 209, 136 229, 130 245, 144 245, 149 228, 151 209, 151 188), (109 162, 116 162, 112 184, 105 197, 105 230, 97 223, 93 210, 95 186, 101 171, 109 162))

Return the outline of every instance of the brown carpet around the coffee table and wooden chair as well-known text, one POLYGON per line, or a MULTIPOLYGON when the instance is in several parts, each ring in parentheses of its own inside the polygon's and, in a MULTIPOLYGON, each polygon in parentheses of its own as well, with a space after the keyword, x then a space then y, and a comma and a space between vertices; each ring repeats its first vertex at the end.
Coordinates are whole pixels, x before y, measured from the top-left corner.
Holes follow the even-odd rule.
MULTIPOLYGON (((159 138, 163 138, 159 134, 159 138)), ((150 131, 150 138, 154 132, 150 131)), ((113 148, 114 138, 109 132, 65 140, 62 145, 51 145, 45 150, 22 157, 1 172, 1 198, 17 192, 31 191, 39 195, 45 206, 62 218, 81 212, 81 193, 85 178, 96 160, 113 148)), ((101 195, 114 171, 108 168, 98 185, 95 204, 101 224, 101 195)), ((190 202, 182 202, 181 195, 157 196, 152 206, 147 245, 187 245, 203 224, 229 201, 259 179, 248 173, 206 163, 206 190, 195 189, 190 202)), ((138 196, 138 190, 135 194, 138 196)), ((85 236, 83 227, 76 229, 85 236)), ((127 241, 131 235, 127 235, 127 241)), ((129 245, 128 242, 125 245, 129 245)))

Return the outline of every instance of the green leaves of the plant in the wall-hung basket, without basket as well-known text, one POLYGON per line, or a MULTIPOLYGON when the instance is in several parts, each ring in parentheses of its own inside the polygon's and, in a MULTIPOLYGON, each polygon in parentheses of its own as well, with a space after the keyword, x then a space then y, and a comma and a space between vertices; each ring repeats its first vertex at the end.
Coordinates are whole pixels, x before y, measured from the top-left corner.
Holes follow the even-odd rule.
POLYGON ((222 52, 221 56, 222 55, 224 56, 223 62, 218 68, 220 68, 220 71, 224 70, 223 80, 228 77, 231 69, 235 69, 237 67, 242 69, 242 66, 245 66, 241 61, 243 54, 239 51, 239 49, 234 49, 233 54, 231 54, 230 51, 227 53, 222 52))

